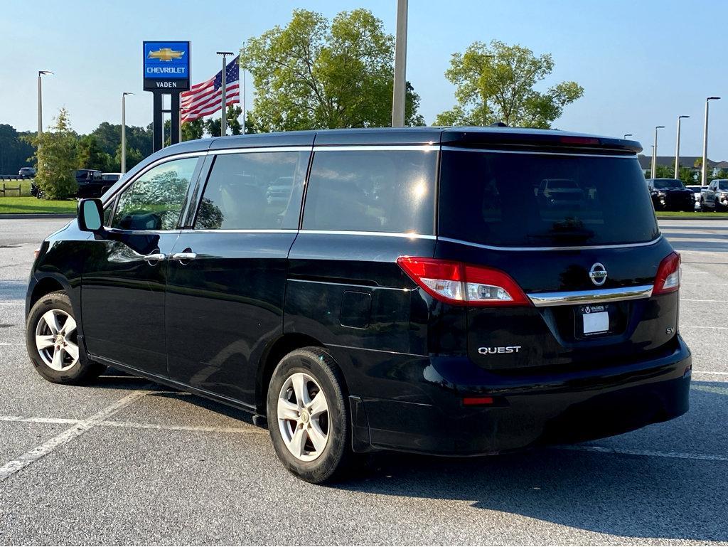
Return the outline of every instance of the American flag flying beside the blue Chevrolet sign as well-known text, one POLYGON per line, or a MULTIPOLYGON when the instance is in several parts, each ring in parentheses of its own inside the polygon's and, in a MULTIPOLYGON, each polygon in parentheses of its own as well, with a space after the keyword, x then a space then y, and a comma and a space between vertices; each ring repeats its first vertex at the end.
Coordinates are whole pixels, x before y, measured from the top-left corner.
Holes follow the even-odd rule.
MULTIPOLYGON (((230 106, 240 103, 240 55, 228 63, 225 68, 225 104, 230 106)), ((223 71, 219 71, 213 78, 193 85, 189 91, 182 93, 181 114, 183 122, 210 116, 221 109, 221 87, 223 85, 223 71)))

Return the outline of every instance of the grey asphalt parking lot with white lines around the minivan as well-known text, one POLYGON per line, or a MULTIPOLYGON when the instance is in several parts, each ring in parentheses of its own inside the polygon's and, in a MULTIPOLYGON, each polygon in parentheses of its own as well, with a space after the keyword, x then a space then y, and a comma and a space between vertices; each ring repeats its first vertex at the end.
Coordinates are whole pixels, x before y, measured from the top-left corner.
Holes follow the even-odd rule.
POLYGON ((515 455, 379 454, 329 487, 284 471, 244 412, 134 377, 36 374, 26 280, 65 222, 0 220, 0 543, 728 543, 728 221, 660 223, 683 257, 688 414, 515 455))

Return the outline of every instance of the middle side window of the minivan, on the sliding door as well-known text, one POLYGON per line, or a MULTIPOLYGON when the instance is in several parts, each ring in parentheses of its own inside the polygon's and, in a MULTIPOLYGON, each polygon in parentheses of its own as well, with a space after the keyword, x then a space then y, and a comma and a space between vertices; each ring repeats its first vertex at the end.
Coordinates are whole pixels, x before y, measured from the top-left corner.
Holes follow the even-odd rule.
POLYGON ((309 152, 218 154, 194 229, 296 229, 309 152))

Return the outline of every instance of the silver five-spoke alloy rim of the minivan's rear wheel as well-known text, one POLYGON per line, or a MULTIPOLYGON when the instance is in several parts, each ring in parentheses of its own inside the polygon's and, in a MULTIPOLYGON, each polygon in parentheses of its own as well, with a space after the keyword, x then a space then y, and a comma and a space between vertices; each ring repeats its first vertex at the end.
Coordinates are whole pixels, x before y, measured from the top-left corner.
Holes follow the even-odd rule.
POLYGON ((298 460, 311 462, 328 443, 328 401, 318 382, 296 372, 283 382, 278 396, 278 428, 285 446, 298 460))

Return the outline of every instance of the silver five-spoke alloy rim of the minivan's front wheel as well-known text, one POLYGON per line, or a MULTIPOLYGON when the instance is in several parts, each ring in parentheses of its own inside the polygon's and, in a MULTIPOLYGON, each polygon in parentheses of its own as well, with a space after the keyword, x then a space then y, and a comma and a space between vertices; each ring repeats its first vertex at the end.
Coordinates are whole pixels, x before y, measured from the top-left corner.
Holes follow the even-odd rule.
POLYGON ((79 362, 76 320, 63 310, 49 310, 36 325, 36 349, 44 363, 65 371, 79 362))

